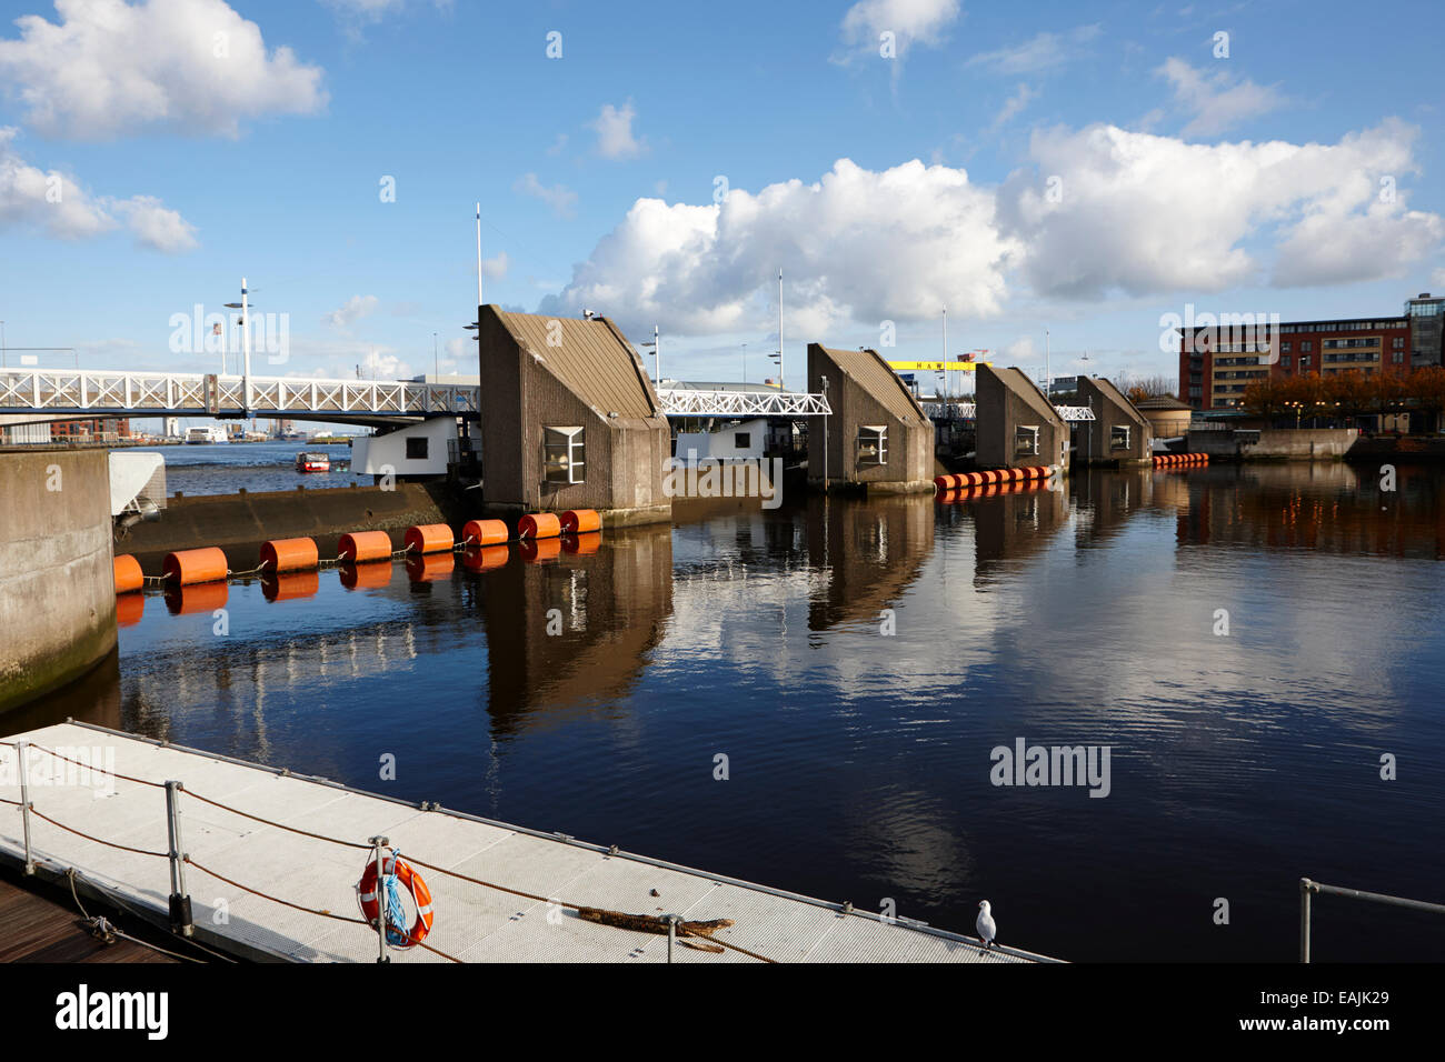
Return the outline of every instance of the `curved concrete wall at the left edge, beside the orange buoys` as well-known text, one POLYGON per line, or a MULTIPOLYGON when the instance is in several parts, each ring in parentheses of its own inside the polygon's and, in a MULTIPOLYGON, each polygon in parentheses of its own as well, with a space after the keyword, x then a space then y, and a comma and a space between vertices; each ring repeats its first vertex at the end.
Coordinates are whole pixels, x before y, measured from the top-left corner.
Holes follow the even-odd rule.
POLYGON ((116 647, 105 451, 0 454, 0 711, 116 647))

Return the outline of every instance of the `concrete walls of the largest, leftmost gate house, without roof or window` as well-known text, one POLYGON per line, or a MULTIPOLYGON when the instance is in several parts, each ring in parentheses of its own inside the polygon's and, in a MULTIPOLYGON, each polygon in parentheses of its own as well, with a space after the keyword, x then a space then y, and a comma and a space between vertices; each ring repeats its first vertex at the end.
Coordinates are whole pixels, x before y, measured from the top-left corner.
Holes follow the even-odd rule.
POLYGON ((493 306, 481 306, 481 459, 488 511, 597 509, 610 524, 670 520, 663 493, 672 435, 666 418, 608 418, 520 347, 493 306), (543 428, 582 426, 584 481, 545 483, 543 428))

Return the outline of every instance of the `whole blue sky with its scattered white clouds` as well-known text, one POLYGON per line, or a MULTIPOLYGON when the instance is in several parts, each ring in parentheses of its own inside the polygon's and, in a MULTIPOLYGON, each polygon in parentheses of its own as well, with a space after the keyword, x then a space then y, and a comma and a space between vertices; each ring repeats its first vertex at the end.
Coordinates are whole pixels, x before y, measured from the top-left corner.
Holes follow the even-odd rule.
POLYGON ((954 353, 1172 376, 1186 303, 1445 288, 1423 3, 0 9, 6 342, 97 368, 214 371, 172 316, 244 275, 257 373, 475 371, 478 199, 488 302, 659 324, 692 380, 770 371, 779 266, 790 386, 883 321, 935 357, 945 303, 954 353))

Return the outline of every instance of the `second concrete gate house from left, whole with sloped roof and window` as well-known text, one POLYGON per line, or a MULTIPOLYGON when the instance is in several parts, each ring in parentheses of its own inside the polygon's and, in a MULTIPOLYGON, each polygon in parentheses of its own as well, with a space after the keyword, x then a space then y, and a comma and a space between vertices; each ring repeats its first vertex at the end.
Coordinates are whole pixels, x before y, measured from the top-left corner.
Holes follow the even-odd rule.
POLYGON ((808 390, 832 407, 808 428, 809 483, 933 490, 933 423, 877 351, 808 344, 808 390))

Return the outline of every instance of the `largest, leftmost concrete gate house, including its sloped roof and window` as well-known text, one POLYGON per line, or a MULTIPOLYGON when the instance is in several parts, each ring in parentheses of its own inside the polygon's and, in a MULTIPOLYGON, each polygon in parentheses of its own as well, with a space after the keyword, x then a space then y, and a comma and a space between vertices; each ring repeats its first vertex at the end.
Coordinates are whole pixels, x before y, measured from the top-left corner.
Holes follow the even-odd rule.
POLYGON ((478 321, 486 509, 597 509, 610 526, 672 519, 668 420, 617 327, 496 306, 478 321))

